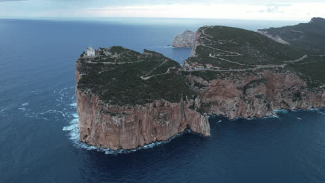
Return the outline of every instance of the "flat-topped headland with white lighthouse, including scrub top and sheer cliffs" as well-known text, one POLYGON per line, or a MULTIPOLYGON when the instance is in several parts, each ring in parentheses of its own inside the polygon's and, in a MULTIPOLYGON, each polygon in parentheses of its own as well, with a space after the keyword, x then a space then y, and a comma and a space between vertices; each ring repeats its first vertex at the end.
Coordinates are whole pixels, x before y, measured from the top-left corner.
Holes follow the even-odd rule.
POLYGON ((206 114, 177 62, 114 46, 76 62, 79 139, 112 150, 166 141, 190 129, 210 135, 206 114), (136 60, 136 61, 135 61, 136 60), (174 69, 174 70, 173 70, 174 69))

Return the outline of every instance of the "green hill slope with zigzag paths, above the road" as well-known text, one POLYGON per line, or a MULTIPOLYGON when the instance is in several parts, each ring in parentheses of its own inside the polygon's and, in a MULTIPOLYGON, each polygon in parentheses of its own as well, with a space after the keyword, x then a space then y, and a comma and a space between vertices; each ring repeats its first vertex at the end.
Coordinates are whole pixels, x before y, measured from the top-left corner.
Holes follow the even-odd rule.
POLYGON ((196 57, 188 59, 190 63, 212 64, 221 69, 247 69, 256 65, 283 64, 304 54, 301 49, 241 28, 210 26, 199 31, 201 45, 195 50, 196 57))

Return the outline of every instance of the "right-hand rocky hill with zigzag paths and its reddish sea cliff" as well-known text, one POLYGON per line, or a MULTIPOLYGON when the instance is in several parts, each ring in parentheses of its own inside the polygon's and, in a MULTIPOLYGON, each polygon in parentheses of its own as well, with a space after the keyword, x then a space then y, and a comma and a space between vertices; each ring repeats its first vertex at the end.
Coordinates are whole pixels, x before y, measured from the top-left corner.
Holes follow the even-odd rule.
POLYGON ((240 28, 203 27, 183 75, 209 115, 263 117, 325 107, 325 59, 240 28))

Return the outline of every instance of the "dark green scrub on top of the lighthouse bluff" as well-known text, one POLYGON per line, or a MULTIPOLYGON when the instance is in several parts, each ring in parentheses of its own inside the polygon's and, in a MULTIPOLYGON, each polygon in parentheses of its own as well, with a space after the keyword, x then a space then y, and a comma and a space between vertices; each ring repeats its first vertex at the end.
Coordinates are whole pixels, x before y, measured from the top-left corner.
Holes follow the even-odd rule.
MULTIPOLYGON (((98 63, 78 60, 78 71, 83 74, 78 82, 78 89, 90 89, 102 101, 113 105, 144 105, 158 99, 179 102, 185 96, 195 95, 176 69, 166 73, 169 67, 180 68, 177 62, 153 51, 130 55, 131 58, 133 56, 137 56, 142 62, 105 64, 105 60, 99 60, 98 63), (142 76, 152 77, 144 80, 142 76)), ((124 57, 125 55, 122 58, 124 57)))

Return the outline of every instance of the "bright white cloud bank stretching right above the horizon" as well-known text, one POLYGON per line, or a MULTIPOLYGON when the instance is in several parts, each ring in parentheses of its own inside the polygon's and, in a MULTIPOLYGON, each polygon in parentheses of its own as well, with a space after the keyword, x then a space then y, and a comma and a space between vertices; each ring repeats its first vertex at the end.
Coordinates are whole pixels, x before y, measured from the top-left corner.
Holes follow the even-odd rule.
POLYGON ((210 19, 308 20, 325 17, 322 3, 175 3, 145 6, 108 6, 84 8, 77 15, 85 17, 176 17, 210 19))

